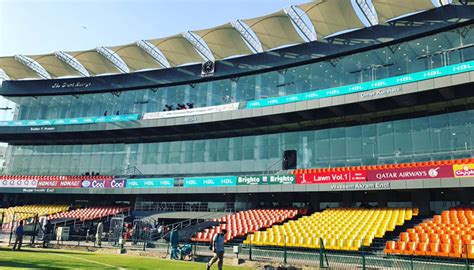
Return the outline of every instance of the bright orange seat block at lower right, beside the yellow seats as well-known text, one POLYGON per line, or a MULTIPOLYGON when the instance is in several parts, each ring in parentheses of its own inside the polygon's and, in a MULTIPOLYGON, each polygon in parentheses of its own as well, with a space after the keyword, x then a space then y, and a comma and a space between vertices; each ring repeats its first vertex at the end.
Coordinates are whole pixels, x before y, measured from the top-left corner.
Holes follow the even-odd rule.
POLYGON ((474 208, 453 208, 387 241, 385 253, 474 258, 474 208))

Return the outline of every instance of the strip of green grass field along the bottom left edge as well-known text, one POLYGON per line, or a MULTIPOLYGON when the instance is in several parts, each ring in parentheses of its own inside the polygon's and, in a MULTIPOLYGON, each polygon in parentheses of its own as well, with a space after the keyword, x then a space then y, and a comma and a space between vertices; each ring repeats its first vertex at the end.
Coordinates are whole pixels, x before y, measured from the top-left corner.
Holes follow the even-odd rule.
MULTIPOLYGON (((0 269, 206 269, 204 263, 169 261, 156 257, 98 254, 71 250, 0 249, 0 269)), ((211 269, 217 269, 217 264, 211 269)), ((226 270, 252 268, 224 266, 226 270)))

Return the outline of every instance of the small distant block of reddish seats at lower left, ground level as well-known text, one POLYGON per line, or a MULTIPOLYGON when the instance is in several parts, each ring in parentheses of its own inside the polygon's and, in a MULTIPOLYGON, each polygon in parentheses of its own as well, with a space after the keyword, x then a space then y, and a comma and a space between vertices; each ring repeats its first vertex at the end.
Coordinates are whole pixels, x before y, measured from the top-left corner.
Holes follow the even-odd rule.
POLYGON ((48 217, 49 220, 61 219, 61 218, 72 218, 79 219, 80 221, 94 220, 103 218, 110 215, 120 214, 129 211, 130 207, 123 206, 96 206, 82 209, 76 209, 69 212, 56 213, 48 217))

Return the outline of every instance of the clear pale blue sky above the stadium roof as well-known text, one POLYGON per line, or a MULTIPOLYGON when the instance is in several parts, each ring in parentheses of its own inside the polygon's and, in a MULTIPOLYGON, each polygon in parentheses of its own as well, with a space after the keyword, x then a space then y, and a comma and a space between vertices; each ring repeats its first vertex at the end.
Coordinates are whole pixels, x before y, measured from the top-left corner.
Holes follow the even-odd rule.
POLYGON ((0 56, 86 50, 205 29, 310 0, 0 0, 0 56))

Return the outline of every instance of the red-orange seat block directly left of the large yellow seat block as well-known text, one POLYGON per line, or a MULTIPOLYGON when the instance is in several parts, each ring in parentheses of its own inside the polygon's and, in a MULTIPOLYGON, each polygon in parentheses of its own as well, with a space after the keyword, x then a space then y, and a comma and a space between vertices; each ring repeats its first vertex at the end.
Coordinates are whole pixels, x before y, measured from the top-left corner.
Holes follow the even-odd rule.
POLYGON ((205 229, 198 232, 193 241, 210 242, 214 234, 220 233, 223 229, 227 230, 224 242, 240 236, 245 236, 248 233, 258 231, 263 228, 269 228, 275 223, 281 223, 287 219, 293 218, 296 215, 303 213, 304 210, 297 209, 257 209, 238 212, 233 215, 215 219, 213 221, 225 222, 219 226, 205 229))

